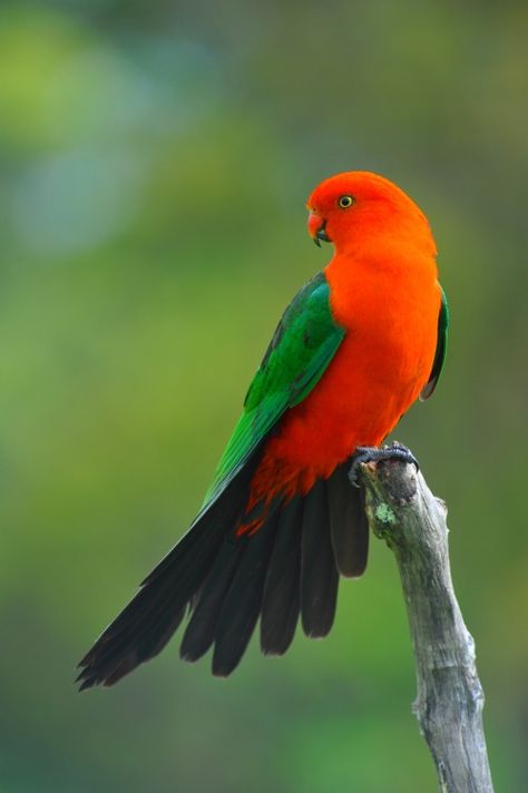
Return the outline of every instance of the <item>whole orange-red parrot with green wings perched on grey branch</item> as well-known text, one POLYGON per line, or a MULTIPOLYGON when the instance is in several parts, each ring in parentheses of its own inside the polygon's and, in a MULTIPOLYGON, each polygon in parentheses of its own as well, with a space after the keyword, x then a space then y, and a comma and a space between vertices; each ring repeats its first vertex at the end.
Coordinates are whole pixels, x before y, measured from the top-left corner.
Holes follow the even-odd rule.
POLYGON ((297 623, 326 636, 341 577, 366 567, 359 466, 400 459, 382 446, 442 371, 449 327, 437 246, 418 205, 383 176, 345 172, 307 199, 309 234, 329 264, 285 310, 190 528, 79 664, 80 691, 111 686, 165 647, 211 648, 228 676, 260 620, 265 655, 297 623))

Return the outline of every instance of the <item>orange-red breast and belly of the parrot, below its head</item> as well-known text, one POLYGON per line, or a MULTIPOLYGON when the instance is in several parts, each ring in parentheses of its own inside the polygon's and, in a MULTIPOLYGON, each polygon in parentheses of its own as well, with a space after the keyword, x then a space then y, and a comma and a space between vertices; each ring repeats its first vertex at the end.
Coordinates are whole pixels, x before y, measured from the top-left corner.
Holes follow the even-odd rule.
POLYGON ((305 493, 358 446, 379 446, 428 382, 441 304, 433 256, 395 255, 383 266, 349 258, 335 256, 325 268, 332 315, 346 334, 267 442, 252 502, 305 493))

